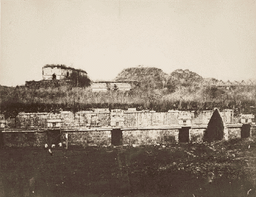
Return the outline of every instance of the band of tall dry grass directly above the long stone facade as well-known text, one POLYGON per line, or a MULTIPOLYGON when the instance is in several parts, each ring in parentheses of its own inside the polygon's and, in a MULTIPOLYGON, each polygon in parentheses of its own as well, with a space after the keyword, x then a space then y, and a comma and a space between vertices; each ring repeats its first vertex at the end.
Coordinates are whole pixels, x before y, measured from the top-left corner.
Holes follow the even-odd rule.
POLYGON ((2 87, 1 112, 43 112, 62 108, 64 110, 87 110, 91 108, 138 108, 158 112, 169 109, 203 110, 256 106, 255 88, 235 90, 209 89, 206 87, 180 86, 175 92, 166 89, 133 89, 131 91, 92 92, 87 88, 28 89, 2 87), (13 107, 14 106, 14 107, 13 107))

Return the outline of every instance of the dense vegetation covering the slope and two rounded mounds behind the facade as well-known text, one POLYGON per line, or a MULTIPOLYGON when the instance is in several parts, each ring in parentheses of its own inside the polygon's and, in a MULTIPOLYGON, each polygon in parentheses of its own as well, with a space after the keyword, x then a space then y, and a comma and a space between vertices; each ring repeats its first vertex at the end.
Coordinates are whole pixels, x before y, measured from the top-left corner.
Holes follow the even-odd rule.
MULTIPOLYGON (((74 79, 76 76, 74 76, 74 79)), ((129 68, 123 70, 116 81, 137 81, 139 86, 131 91, 92 92, 90 87, 77 85, 57 88, 29 89, 25 86, 1 86, 1 113, 47 112, 87 110, 91 108, 137 108, 158 112, 169 109, 195 110, 218 107, 254 113, 255 87, 225 88, 201 86, 206 80, 196 73, 174 71, 169 75, 157 68, 129 68)))

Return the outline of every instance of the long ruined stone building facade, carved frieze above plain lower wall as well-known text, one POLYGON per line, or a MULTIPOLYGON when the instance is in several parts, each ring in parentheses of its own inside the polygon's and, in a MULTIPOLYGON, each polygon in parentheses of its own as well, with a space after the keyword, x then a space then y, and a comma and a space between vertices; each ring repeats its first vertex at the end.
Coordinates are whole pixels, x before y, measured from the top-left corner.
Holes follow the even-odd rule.
MULTIPOLYGON (((75 114, 67 111, 59 114, 20 113, 15 119, 6 120, 1 115, 1 145, 43 146, 47 141, 47 129, 53 127, 61 129, 63 141, 68 133, 69 145, 109 145, 114 143, 115 138, 118 138, 117 141, 121 141, 121 144, 128 145, 202 142, 212 114, 213 111, 195 113, 169 110, 156 113, 149 110, 135 111, 131 108, 128 111, 95 109, 75 114), (54 120, 59 126, 56 123, 54 125, 54 120), (120 134, 114 136, 113 132, 120 134)), ((220 115, 224 124, 223 139, 256 135, 252 114, 240 116, 240 122, 237 121, 239 117, 234 116, 233 110, 223 110, 220 115), (232 121, 234 119, 235 122, 232 121)))

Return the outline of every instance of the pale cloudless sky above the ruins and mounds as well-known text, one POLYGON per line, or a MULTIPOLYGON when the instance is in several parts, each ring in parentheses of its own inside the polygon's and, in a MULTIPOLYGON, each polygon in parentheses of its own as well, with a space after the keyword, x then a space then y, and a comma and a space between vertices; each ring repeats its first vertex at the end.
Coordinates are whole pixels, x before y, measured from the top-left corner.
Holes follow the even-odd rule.
POLYGON ((124 68, 256 79, 255 0, 1 0, 0 84, 66 64, 92 80, 124 68))

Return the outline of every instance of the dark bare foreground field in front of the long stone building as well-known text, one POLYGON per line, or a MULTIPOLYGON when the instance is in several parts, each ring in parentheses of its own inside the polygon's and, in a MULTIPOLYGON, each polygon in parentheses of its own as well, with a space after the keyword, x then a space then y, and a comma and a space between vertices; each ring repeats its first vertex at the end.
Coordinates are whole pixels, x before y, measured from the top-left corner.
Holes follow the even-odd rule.
POLYGON ((3 148, 1 197, 256 196, 256 140, 3 148))

